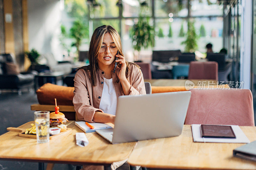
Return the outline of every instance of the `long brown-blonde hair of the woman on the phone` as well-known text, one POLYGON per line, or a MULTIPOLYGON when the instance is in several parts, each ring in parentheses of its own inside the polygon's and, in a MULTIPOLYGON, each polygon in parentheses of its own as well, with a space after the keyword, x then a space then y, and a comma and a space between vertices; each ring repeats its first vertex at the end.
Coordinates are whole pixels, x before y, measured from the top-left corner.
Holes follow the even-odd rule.
MULTIPOLYGON (((102 25, 102 26, 96 28, 92 34, 92 39, 90 42, 90 47, 89 47, 89 52, 88 52, 90 65, 77 68, 77 70, 84 69, 85 71, 90 72, 91 83, 93 86, 97 86, 96 72, 99 69, 98 55, 100 53, 99 52, 100 46, 103 42, 103 36, 105 35, 106 32, 109 32, 111 34, 111 36, 116 44, 116 47, 119 51, 119 54, 124 56, 121 38, 120 38, 120 35, 118 34, 118 32, 116 31, 116 29, 114 27, 112 27, 111 25, 102 25)), ((137 64, 134 64, 132 62, 127 62, 127 61, 125 61, 125 62, 126 62, 126 70, 125 70, 126 78, 128 77, 129 72, 131 71, 130 67, 129 67, 130 64, 136 65, 138 68, 140 68, 137 64)), ((119 68, 121 68, 121 64, 119 64, 119 62, 117 63, 117 66, 119 68)), ((118 82, 118 81, 119 81, 119 78, 117 78, 116 82, 118 82)))

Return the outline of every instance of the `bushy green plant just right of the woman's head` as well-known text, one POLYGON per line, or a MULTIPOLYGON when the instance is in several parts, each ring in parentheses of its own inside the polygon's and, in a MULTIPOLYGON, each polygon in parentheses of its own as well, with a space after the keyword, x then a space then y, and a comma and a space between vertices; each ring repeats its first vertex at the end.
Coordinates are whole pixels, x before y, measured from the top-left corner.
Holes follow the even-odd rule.
POLYGON ((145 49, 154 45, 154 28, 149 24, 149 17, 139 17, 138 23, 134 24, 130 30, 134 50, 145 49))

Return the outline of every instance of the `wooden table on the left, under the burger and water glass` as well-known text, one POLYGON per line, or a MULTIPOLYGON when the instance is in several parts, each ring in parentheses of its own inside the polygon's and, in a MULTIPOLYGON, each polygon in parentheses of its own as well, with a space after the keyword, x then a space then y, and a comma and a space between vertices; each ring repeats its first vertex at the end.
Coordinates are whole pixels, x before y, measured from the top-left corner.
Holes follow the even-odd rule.
MULTIPOLYGON (((31 123, 34 123, 34 121, 23 124, 19 128, 29 128, 31 123)), ((111 163, 127 159, 136 144, 136 142, 129 142, 112 145, 94 132, 85 134, 89 140, 89 145, 80 147, 76 145, 75 135, 76 132, 83 131, 75 125, 75 121, 69 121, 67 125, 68 128, 72 128, 69 135, 51 139, 50 142, 45 144, 37 144, 35 138, 19 137, 19 132, 15 131, 9 131, 1 135, 0 159, 75 165, 104 165, 105 169, 111 169, 111 163)))

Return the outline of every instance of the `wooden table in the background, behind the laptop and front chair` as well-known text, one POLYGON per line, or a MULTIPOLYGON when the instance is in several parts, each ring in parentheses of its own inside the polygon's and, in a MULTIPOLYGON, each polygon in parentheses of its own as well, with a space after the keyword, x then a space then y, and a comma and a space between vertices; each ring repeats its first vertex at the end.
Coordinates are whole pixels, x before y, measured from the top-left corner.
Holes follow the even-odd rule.
MULTIPOLYGON (((150 82, 151 86, 185 86, 185 82, 187 81, 188 79, 144 79, 144 81, 146 82, 150 82)), ((204 82, 205 84, 205 87, 207 88, 208 87, 208 84, 209 83, 214 83, 214 85, 218 85, 218 81, 216 80, 195 80, 195 79, 192 79, 190 80, 192 81, 195 86, 197 86, 198 82, 201 81, 201 84, 202 82, 204 82)), ((212 85, 212 84, 211 84, 212 85)))

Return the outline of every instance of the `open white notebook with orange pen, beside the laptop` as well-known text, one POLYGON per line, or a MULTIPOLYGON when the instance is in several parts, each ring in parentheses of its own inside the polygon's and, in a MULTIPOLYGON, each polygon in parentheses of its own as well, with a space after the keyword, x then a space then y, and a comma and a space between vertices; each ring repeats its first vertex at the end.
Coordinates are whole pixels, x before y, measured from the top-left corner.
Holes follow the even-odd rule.
POLYGON ((85 133, 89 132, 95 132, 96 130, 100 129, 109 129, 112 128, 108 124, 104 123, 90 123, 92 126, 94 126, 94 129, 89 128, 84 121, 81 122, 75 122, 76 126, 78 126, 80 129, 82 129, 85 133))

